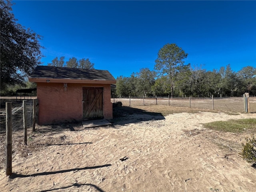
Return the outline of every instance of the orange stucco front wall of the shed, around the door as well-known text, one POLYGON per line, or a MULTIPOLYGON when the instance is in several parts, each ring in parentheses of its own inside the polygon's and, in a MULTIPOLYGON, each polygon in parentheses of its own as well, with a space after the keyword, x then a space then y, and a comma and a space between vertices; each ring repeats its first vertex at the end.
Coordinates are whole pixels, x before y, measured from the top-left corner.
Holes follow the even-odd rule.
POLYGON ((103 87, 104 118, 112 118, 110 84, 37 83, 38 124, 82 121, 82 87, 103 87))

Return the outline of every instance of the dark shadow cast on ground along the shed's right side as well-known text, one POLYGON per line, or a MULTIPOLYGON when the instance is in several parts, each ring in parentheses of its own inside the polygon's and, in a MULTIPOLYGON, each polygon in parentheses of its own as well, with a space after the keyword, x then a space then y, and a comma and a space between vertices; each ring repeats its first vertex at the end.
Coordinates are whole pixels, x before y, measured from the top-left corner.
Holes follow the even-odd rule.
POLYGON ((162 113, 148 112, 146 110, 122 106, 113 108, 113 119, 109 120, 113 125, 125 125, 150 120, 164 120, 162 113))

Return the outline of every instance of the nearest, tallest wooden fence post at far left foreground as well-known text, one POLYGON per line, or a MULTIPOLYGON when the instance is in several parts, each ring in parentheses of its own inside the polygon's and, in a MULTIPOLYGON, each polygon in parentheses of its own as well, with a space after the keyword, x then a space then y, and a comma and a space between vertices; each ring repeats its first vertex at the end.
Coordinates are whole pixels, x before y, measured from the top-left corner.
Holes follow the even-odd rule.
POLYGON ((12 102, 6 102, 6 176, 12 174, 12 102))

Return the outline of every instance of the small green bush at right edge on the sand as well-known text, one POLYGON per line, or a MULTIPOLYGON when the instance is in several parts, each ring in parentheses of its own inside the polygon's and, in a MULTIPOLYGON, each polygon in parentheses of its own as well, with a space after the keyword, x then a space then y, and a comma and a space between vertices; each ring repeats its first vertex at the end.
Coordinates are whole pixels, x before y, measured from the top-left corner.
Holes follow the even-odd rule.
POLYGON ((242 143, 242 157, 250 163, 256 163, 256 139, 254 135, 252 138, 246 139, 246 144, 242 143))

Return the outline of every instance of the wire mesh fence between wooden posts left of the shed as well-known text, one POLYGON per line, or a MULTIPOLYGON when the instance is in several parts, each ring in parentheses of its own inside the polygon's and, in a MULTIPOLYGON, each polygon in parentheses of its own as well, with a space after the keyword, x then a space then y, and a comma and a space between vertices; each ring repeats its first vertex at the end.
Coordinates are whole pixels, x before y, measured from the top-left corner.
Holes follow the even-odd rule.
MULTIPOLYGON (((24 141, 23 104, 12 106, 12 157, 24 141)), ((26 126, 32 128, 33 100, 26 100, 26 126)), ((0 169, 6 168, 6 110, 0 111, 0 169)))

